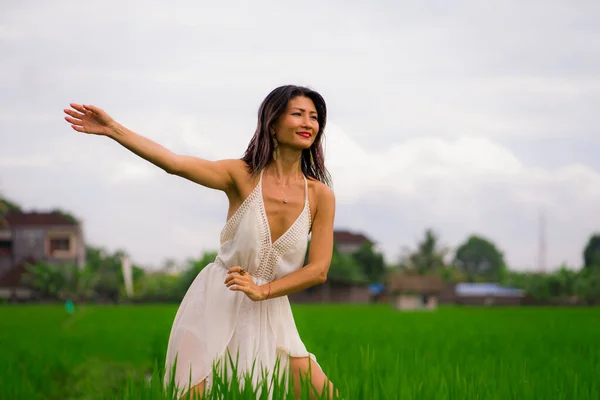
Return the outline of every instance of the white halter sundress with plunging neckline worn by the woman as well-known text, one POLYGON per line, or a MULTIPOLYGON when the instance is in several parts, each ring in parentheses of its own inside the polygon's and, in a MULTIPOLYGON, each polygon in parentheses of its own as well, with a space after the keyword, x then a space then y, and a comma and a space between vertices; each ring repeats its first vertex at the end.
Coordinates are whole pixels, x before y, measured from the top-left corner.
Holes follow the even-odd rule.
POLYGON ((194 279, 177 310, 167 348, 165 384, 176 367, 175 384, 184 393, 204 379, 209 389, 213 363, 222 360, 229 364, 227 350, 237 358, 240 380, 256 364, 255 385, 263 378, 261 369, 266 369, 271 379, 278 358, 277 378, 288 373, 288 356, 311 357, 316 363, 300 339, 287 296, 254 302, 224 284, 227 270, 233 266, 245 268, 257 285, 302 268, 311 223, 306 177, 304 191, 302 212, 272 242, 261 171, 258 184, 221 231, 215 261, 194 279))

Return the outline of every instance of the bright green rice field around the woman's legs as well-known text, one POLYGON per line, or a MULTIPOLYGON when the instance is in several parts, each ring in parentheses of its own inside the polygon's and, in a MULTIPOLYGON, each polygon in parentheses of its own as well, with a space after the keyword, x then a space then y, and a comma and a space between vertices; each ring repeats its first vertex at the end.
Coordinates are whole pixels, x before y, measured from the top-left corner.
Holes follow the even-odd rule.
MULTIPOLYGON (((345 399, 600 399, 598 308, 293 310, 308 350, 345 399)), ((175 311, 0 306, 0 399, 169 398, 158 374, 175 311)))

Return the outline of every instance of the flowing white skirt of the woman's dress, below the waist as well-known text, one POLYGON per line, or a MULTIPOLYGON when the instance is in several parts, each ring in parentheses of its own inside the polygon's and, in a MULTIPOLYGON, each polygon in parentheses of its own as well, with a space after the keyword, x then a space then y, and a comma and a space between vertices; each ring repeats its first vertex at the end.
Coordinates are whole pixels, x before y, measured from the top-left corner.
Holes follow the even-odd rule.
MULTIPOLYGON (((219 263, 206 266, 190 285, 175 315, 165 384, 175 368, 175 384, 183 393, 203 380, 210 388, 213 364, 219 360, 231 376, 228 353, 237 364, 240 381, 254 369, 255 385, 265 378, 265 370, 270 381, 278 359, 277 379, 288 374, 288 357, 311 357, 316 363, 300 339, 287 296, 254 302, 243 292, 225 286, 226 273, 219 263)), ((260 278, 254 281, 265 283, 260 278)))

